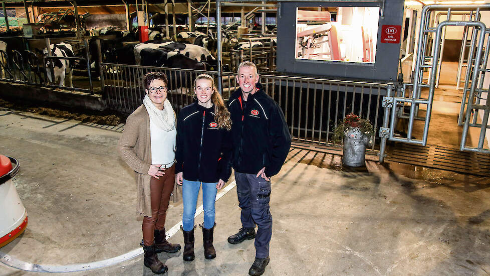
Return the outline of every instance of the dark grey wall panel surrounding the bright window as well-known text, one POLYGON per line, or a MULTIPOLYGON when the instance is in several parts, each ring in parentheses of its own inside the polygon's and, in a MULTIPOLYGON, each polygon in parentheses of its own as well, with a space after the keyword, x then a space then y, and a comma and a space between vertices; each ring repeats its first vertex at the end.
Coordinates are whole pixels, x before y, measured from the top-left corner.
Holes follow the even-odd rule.
POLYGON ((404 0, 386 0, 384 17, 378 24, 374 64, 295 59, 296 8, 298 7, 380 7, 381 3, 281 2, 278 11, 277 70, 315 76, 347 79, 396 80, 400 43, 380 43, 382 25, 402 25, 404 0))

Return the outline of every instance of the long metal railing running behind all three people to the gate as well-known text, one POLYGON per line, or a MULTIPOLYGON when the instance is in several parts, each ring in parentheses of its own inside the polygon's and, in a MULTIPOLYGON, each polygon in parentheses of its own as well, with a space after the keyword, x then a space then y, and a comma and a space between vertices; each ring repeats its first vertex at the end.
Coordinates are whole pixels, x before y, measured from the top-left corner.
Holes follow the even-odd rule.
MULTIPOLYGON (((145 95, 142 79, 148 72, 158 71, 167 75, 167 98, 176 112, 195 101, 193 81, 197 75, 206 73, 217 79, 215 71, 114 63, 102 63, 101 66, 108 105, 123 113, 131 113, 142 104, 145 95)), ((236 73, 222 74, 221 92, 227 101, 239 86, 236 73)), ((293 139, 297 142, 333 145, 334 129, 348 113, 369 118, 375 129, 381 124, 380 106, 382 97, 386 95, 386 83, 270 74, 260 76, 266 93, 282 108, 293 139)), ((375 138, 375 142, 378 141, 379 138, 375 138)), ((374 144, 371 150, 377 148, 374 144)))

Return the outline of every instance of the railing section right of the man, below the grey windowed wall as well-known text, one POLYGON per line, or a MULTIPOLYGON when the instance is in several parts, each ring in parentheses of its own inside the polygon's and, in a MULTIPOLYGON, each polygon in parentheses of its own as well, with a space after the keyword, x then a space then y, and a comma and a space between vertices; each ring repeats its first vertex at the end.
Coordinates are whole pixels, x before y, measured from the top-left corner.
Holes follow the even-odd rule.
MULTIPOLYGON (((375 129, 381 124, 380 106, 386 83, 269 74, 261 75, 261 83, 282 108, 294 141, 333 145, 332 134, 349 113, 368 118, 375 129)), ((371 150, 378 141, 376 137, 371 150)))

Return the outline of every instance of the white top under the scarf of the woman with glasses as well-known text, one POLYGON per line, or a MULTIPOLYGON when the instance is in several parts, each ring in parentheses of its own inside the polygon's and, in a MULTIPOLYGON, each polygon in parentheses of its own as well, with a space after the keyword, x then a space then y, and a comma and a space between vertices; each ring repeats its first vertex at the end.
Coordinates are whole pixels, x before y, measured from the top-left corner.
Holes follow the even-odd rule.
POLYGON ((150 116, 151 164, 166 165, 168 168, 175 162, 176 136, 175 128, 165 131, 159 128, 150 116))

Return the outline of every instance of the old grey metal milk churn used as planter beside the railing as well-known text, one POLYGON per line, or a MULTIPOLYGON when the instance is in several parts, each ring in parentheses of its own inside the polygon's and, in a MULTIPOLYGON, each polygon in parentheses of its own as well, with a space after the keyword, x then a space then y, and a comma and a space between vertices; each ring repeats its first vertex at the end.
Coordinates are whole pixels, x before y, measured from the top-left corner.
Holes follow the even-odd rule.
POLYGON ((344 131, 342 164, 350 167, 365 166, 364 156, 368 140, 359 127, 349 126, 344 131))

